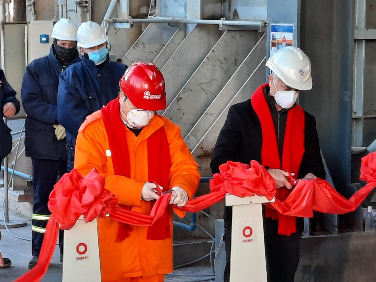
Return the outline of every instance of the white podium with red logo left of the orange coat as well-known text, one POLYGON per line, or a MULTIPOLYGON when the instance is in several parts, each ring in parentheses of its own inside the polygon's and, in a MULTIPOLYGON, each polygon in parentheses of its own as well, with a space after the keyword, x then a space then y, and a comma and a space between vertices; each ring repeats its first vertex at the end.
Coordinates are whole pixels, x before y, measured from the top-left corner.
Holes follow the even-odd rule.
POLYGON ((97 219, 64 230, 62 282, 101 282, 97 219))

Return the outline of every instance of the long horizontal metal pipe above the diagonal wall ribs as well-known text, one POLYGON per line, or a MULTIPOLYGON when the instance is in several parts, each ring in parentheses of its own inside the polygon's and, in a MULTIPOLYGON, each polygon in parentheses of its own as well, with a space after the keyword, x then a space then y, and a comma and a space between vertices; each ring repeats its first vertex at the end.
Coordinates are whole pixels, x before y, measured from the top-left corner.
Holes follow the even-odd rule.
POLYGON ((113 18, 104 19, 108 23, 179 23, 179 24, 218 24, 224 26, 266 26, 266 21, 195 20, 186 18, 113 18))

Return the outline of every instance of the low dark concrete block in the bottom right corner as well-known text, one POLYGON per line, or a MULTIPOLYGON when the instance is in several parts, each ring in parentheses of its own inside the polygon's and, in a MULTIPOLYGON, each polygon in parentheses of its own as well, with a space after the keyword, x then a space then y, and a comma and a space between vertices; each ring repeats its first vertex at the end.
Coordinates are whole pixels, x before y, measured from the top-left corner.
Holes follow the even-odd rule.
POLYGON ((375 281, 376 233, 303 238, 295 282, 375 281))

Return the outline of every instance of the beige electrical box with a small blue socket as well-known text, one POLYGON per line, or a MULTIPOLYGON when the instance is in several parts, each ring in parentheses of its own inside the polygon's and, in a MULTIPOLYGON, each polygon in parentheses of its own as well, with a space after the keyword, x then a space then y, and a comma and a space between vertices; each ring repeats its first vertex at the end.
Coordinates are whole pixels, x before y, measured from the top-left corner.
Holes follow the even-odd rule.
POLYGON ((53 21, 31 21, 25 27, 26 65, 50 53, 53 21))

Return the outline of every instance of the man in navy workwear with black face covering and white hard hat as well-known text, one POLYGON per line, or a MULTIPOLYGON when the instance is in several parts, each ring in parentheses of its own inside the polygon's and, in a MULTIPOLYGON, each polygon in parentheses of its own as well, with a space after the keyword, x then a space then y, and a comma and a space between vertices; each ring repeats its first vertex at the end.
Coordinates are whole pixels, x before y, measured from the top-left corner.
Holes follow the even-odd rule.
MULTIPOLYGON (((33 165, 32 256, 29 268, 38 262, 45 227, 50 218, 49 195, 57 179, 67 172, 65 128, 56 114, 59 75, 79 62, 77 26, 69 19, 59 20, 53 27, 50 54, 31 62, 24 74, 21 96, 27 114, 25 155, 33 165)), ((60 232, 60 260, 63 238, 60 232)))

